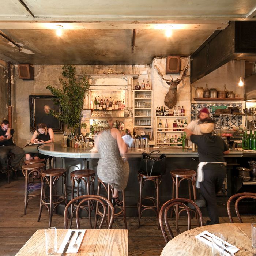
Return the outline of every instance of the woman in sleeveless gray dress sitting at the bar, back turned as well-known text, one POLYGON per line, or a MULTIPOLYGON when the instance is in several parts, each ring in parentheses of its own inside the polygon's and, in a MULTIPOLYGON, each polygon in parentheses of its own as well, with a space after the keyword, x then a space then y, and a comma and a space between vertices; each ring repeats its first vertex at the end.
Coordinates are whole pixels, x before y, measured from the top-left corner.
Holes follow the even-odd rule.
POLYGON ((121 155, 127 152, 127 145, 121 138, 121 134, 113 127, 112 118, 109 119, 109 129, 97 135, 95 144, 99 153, 97 167, 98 177, 113 186, 113 206, 122 206, 123 202, 118 198, 118 191, 126 188, 129 177, 129 164, 123 161, 121 155))

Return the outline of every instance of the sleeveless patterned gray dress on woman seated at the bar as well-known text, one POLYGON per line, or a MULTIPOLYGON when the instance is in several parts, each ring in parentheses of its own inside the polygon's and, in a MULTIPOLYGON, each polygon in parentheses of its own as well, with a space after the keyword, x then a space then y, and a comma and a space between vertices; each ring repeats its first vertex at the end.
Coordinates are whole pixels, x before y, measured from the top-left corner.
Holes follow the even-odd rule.
POLYGON ((108 129, 99 133, 97 141, 98 177, 118 191, 124 190, 129 177, 129 164, 121 158, 117 140, 112 137, 111 130, 108 129))

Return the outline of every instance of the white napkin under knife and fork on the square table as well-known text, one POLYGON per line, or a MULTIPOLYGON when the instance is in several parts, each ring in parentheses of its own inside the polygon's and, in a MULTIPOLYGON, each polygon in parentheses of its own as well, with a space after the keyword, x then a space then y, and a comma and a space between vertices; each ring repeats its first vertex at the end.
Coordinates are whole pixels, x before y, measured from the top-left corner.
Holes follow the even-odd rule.
POLYGON ((80 248, 80 245, 81 245, 81 242, 83 241, 83 237, 84 237, 84 234, 86 232, 86 229, 69 229, 66 236, 64 237, 64 240, 59 248, 59 251, 58 253, 62 253, 64 248, 65 248, 65 245, 67 244, 68 242, 68 238, 70 237, 70 234, 71 234, 71 231, 75 231, 75 234, 72 236, 71 240, 70 240, 70 243, 69 243, 69 246, 68 246, 68 249, 67 249, 67 252, 66 253, 77 253, 79 248, 80 248), (76 237, 77 237, 77 234, 78 232, 82 232, 82 234, 80 234, 80 236, 78 237, 78 240, 76 241, 76 237), (73 247, 73 245, 75 244, 75 241, 77 243, 77 246, 76 247, 73 247))

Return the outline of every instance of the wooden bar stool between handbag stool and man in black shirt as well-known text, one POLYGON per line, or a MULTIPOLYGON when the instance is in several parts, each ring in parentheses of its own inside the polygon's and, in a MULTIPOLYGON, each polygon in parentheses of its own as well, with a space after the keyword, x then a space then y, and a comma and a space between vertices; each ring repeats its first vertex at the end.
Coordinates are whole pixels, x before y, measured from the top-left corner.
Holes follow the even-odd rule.
MULTIPOLYGON (((179 198, 179 187, 180 183, 183 180, 188 181, 188 192, 189 192, 189 199, 192 200, 192 195, 191 195, 191 186, 193 188, 193 197, 194 201, 196 200, 196 171, 194 170, 189 170, 189 169, 175 169, 170 171, 172 180, 173 180, 173 187, 172 187, 172 199, 173 198, 179 198), (181 178, 179 180, 179 178, 181 178), (191 186, 190 186, 191 182, 191 186)), ((178 230, 178 219, 180 217, 180 213, 184 211, 185 209, 182 208, 179 210, 179 206, 176 205, 176 230, 178 230)), ((190 209, 191 211, 195 212, 196 218, 197 218, 197 212, 190 209)), ((172 217, 172 211, 171 211, 171 217, 172 217)), ((197 218, 198 220, 198 218, 197 218)))

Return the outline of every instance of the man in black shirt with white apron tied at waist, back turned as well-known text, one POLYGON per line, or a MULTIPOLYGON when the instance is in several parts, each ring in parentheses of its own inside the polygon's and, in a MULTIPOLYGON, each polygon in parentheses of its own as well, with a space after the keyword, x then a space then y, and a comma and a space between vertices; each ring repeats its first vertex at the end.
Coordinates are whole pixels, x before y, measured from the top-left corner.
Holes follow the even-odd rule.
POLYGON ((188 134, 191 142, 198 146, 197 187, 200 187, 199 199, 206 202, 211 219, 209 224, 218 224, 216 194, 221 189, 226 177, 226 163, 223 154, 229 154, 229 147, 221 137, 212 136, 213 120, 206 119, 199 126, 203 135, 188 134))

